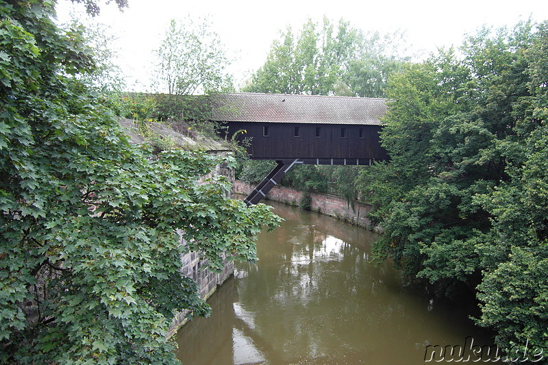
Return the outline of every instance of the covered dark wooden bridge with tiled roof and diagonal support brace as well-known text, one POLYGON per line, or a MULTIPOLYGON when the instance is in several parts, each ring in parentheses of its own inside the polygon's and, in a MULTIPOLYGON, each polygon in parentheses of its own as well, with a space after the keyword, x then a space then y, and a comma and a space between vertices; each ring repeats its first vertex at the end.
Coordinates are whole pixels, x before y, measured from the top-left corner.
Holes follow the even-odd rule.
POLYGON ((277 166, 247 197, 258 203, 295 164, 368 165, 387 160, 379 142, 385 99, 234 93, 212 99, 223 137, 245 142, 251 160, 277 166))

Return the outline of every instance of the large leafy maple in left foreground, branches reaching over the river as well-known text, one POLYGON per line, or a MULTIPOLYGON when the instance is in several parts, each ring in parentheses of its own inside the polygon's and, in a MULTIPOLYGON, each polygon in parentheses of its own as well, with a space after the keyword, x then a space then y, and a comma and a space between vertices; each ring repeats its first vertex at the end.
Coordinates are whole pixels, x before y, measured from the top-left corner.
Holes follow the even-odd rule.
POLYGON ((54 5, 0 0, 0 362, 176 364, 173 313, 208 313, 181 253, 254 260, 277 218, 221 177, 197 184, 219 158, 132 147, 54 5))

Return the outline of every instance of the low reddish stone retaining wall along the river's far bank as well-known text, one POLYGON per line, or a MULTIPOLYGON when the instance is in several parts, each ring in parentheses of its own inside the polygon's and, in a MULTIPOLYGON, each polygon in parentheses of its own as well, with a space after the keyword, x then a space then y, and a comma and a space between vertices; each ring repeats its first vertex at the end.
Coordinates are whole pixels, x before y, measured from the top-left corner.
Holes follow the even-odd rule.
MULTIPOLYGON (((255 186, 246 184, 243 181, 236 180, 234 182, 234 192, 236 194, 248 195, 253 191, 255 186)), ((288 205, 298 206, 305 194, 310 194, 310 210, 337 218, 340 221, 351 223, 359 227, 369 229, 380 233, 380 227, 373 227, 367 214, 373 209, 373 205, 354 201, 353 206, 343 197, 338 197, 332 194, 318 194, 315 192, 301 192, 286 186, 275 186, 270 190, 264 199, 277 201, 288 205)))

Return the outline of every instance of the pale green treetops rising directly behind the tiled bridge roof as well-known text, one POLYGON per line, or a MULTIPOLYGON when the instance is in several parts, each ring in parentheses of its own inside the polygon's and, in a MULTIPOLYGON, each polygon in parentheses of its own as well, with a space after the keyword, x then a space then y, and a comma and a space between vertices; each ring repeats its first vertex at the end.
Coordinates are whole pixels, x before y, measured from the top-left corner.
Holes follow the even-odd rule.
POLYGON ((309 19, 296 36, 288 27, 275 40, 247 92, 383 97, 388 75, 407 60, 403 34, 364 34, 341 19, 309 19))

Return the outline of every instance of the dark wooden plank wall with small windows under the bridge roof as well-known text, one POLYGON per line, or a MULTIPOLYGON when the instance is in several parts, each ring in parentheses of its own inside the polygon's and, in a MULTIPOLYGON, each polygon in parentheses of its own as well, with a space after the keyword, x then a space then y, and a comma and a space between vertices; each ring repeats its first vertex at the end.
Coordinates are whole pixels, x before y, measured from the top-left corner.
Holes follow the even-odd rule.
POLYGON ((247 147, 253 160, 375 159, 388 160, 379 142, 379 125, 335 125, 313 123, 226 123, 229 138, 239 130, 251 139, 247 147), (266 129, 265 129, 266 127, 266 129), (295 130, 298 127, 297 131, 295 130), (264 136, 266 131, 267 136, 264 136), (316 137, 316 135, 319 135, 316 137), (360 138, 361 136, 361 138, 360 138))

